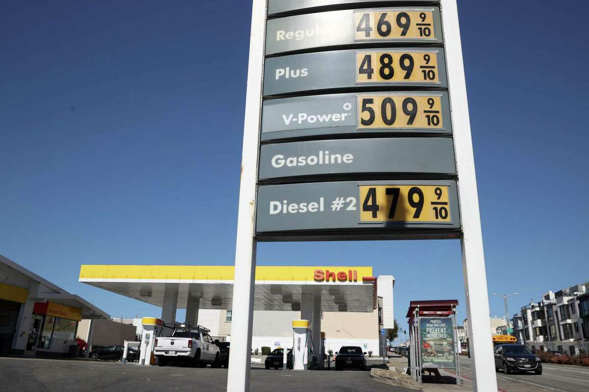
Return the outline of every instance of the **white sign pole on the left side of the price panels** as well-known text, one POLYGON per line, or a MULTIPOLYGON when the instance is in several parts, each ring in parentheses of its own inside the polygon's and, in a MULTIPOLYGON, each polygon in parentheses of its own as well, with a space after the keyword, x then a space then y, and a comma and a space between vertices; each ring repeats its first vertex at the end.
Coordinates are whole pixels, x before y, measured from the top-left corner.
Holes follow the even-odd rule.
POLYGON ((227 376, 227 391, 231 392, 248 392, 250 390, 254 282, 256 275, 254 212, 256 210, 265 30, 266 0, 253 0, 250 57, 247 71, 246 115, 243 126, 243 150, 241 152, 239 212, 237 214, 231 355, 229 356, 229 368, 231 370, 227 376))

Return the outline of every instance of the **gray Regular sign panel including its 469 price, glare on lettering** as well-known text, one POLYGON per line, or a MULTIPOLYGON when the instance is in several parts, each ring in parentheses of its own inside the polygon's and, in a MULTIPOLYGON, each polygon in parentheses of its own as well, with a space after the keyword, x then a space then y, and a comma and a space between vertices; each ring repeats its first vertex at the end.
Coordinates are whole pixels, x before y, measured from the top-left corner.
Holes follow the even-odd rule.
POLYGON ((346 9, 270 19, 266 25, 266 55, 353 45, 357 42, 441 43, 442 22, 439 9, 346 9), (400 13, 405 16, 397 21, 396 16, 400 13), (425 24, 420 24, 419 14, 423 15, 425 24), (380 15, 387 15, 391 19, 385 21, 386 29, 380 29, 382 35, 378 33, 380 15), (407 29, 403 30, 401 26, 406 26, 407 29), (401 36, 403 31, 404 36, 401 36))

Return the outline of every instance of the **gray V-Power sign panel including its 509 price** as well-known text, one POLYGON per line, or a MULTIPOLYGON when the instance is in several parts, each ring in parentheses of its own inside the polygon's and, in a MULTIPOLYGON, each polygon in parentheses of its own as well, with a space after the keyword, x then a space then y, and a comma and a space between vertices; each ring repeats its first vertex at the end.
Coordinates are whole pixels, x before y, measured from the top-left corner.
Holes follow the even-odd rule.
MULTIPOLYGON (((382 118, 381 105, 369 105, 382 118)), ((412 108, 412 104, 407 104, 412 108)), ((294 139, 310 136, 359 133, 452 133, 448 93, 385 92, 359 94, 330 94, 268 99, 263 102, 262 140, 294 139), (363 98, 394 98, 396 119, 391 126, 362 126, 358 118, 369 118, 368 108, 362 108, 363 98), (420 99, 423 97, 423 99, 420 99), (418 112, 413 118, 403 112, 407 98, 416 102, 418 112), (425 102, 424 102, 425 99, 425 102), (434 102, 435 105, 429 105, 434 102), (432 107, 431 107, 432 106, 432 107), (437 117, 437 122, 436 118, 437 117), (428 122, 429 120, 429 122, 428 122), (429 125, 428 125, 429 123, 429 125), (437 125, 434 125, 436 123, 437 125)), ((376 113, 375 113, 376 118, 376 113)))

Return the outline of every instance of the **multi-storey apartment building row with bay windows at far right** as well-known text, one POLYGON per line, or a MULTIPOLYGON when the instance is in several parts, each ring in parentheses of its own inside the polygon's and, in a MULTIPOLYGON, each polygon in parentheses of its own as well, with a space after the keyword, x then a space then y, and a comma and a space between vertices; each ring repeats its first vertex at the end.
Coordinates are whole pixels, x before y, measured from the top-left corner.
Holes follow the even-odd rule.
POLYGON ((589 282, 558 292, 521 308, 512 319, 514 336, 531 350, 589 352, 589 282))

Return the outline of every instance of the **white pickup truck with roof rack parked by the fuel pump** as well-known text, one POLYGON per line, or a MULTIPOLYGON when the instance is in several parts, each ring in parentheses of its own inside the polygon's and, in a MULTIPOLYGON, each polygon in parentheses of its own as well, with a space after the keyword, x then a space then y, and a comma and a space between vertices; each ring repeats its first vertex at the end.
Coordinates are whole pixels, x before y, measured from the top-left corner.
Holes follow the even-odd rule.
POLYGON ((184 366, 220 367, 219 347, 209 336, 210 330, 197 328, 175 329, 170 337, 155 338, 154 356, 159 366, 179 360, 184 366))

